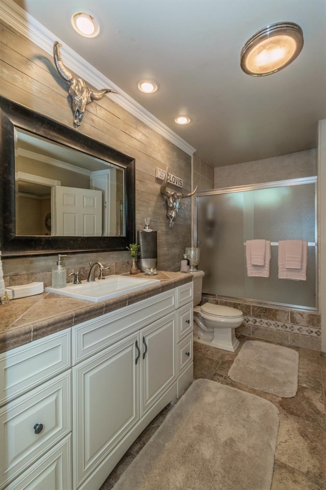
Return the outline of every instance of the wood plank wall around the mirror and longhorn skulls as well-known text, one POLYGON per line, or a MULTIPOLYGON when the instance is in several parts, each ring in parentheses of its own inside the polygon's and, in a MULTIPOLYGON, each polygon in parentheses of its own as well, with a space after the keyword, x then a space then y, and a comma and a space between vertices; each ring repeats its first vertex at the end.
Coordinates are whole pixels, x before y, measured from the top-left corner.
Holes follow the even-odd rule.
MULTIPOLYGON (((4 23, 0 23, 0 93, 73 127, 68 85, 58 74, 53 58, 4 23)), ((178 271, 184 248, 191 245, 191 200, 182 200, 177 222, 169 228, 155 168, 168 166, 172 174, 183 179, 182 192, 186 193, 191 190, 191 157, 109 96, 87 106, 82 126, 76 131, 135 158, 136 229, 144 228, 144 218, 149 216, 158 232, 158 268, 178 271)))

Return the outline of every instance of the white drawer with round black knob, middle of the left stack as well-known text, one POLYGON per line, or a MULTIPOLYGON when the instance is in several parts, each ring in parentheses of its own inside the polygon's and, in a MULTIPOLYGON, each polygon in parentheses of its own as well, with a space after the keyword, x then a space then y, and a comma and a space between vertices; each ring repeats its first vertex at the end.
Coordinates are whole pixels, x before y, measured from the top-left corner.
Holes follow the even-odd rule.
POLYGON ((0 488, 69 434, 70 410, 70 370, 0 409, 0 488))

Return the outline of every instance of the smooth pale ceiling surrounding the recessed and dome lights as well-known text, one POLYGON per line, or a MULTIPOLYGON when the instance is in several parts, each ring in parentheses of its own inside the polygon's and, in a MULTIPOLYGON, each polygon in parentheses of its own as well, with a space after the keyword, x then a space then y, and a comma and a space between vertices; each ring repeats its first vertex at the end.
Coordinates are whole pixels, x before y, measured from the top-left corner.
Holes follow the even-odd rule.
POLYGON ((326 0, 16 3, 213 166, 316 146, 317 121, 326 118, 326 0), (70 17, 80 10, 98 19, 98 37, 73 30, 70 17), (249 77, 239 66, 243 44, 278 21, 301 26, 303 51, 276 74, 249 77), (139 92, 144 78, 159 90, 139 92), (178 126, 179 114, 191 124, 178 126))

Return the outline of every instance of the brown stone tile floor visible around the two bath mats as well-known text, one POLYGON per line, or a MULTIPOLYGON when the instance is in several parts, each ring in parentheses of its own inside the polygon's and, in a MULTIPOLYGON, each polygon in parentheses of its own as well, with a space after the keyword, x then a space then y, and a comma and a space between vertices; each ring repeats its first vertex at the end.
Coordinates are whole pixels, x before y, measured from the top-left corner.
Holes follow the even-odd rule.
MULTIPOLYGON (((239 338, 240 347, 247 339, 239 338)), ((270 490, 326 490, 326 354, 294 349, 299 353, 298 390, 294 398, 279 398, 232 381, 228 371, 239 348, 232 353, 194 342, 194 378, 207 378, 248 391, 277 406, 280 427, 270 490)), ((135 440, 100 490, 113 488, 171 409, 168 405, 162 410, 135 440)))

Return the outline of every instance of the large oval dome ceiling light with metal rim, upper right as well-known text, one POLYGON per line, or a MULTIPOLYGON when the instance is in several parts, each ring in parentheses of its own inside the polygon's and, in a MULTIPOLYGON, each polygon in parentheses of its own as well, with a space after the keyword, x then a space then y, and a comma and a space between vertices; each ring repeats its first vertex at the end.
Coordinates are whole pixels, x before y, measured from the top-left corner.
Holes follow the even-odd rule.
POLYGON ((276 22, 256 32, 240 54, 242 70, 263 77, 288 66, 301 53, 303 32, 294 22, 276 22))

